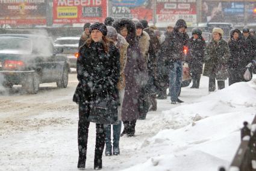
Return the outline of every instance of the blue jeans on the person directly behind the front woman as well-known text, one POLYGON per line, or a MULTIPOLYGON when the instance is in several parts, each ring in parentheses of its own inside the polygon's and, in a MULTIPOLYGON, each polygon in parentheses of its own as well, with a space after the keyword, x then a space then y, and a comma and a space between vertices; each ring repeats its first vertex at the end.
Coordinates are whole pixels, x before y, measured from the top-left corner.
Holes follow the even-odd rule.
MULTIPOLYGON (((121 121, 119 121, 118 125, 113 125, 113 148, 119 148, 121 128, 122 128, 121 121)), ((106 149, 112 151, 111 125, 105 125, 105 134, 106 134, 106 149)))

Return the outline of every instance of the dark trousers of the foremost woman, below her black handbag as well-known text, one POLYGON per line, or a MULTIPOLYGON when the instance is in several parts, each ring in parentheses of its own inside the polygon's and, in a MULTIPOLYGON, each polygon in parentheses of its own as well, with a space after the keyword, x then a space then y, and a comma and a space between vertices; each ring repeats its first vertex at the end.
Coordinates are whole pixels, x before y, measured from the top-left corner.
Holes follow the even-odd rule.
MULTIPOLYGON (((79 160, 86 160, 88 129, 90 122, 86 120, 86 114, 81 113, 78 120, 78 152, 79 160)), ((102 159, 102 153, 105 146, 104 125, 96 123, 96 145, 95 145, 95 161, 102 159)))

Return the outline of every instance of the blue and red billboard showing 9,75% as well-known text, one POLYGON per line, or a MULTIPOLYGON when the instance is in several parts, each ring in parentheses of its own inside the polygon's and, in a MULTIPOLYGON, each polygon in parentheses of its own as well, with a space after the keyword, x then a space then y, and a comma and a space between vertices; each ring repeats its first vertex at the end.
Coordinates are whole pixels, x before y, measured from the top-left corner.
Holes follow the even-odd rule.
POLYGON ((112 0, 108 5, 108 15, 114 19, 136 18, 152 22, 152 0, 112 0))

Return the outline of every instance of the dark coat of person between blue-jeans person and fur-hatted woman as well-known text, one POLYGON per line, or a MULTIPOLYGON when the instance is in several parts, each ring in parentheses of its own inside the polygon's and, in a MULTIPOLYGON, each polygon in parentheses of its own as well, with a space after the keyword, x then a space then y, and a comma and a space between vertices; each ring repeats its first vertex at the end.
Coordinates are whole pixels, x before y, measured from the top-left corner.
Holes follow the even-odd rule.
POLYGON ((199 39, 192 37, 189 40, 189 68, 191 73, 202 73, 205 45, 202 36, 199 36, 199 39))

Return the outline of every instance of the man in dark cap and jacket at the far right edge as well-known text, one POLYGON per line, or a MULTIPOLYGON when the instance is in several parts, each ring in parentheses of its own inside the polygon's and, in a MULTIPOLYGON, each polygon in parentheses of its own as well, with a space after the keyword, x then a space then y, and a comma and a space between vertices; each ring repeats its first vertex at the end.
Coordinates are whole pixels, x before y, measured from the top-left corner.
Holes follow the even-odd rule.
POLYGON ((256 40, 249 33, 249 28, 243 28, 243 37, 246 42, 246 56, 248 56, 251 60, 255 60, 256 57, 256 40))

